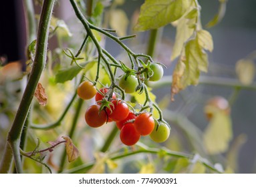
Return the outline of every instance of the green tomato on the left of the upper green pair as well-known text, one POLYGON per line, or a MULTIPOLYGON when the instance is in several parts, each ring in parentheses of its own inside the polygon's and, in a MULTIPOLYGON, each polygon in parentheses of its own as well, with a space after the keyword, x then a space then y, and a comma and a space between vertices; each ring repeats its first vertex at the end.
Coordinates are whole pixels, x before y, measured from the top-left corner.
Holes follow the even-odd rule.
POLYGON ((126 75, 122 75, 119 86, 124 89, 126 93, 134 93, 136 87, 138 86, 138 80, 134 75, 130 75, 125 79, 126 75))

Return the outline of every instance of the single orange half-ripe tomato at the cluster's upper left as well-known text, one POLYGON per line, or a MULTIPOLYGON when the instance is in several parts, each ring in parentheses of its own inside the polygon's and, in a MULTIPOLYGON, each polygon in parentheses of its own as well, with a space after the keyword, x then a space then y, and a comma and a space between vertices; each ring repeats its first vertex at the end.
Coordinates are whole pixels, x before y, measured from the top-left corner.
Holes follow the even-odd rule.
POLYGON ((83 100, 90 100, 96 95, 97 89, 92 82, 83 81, 78 86, 77 92, 78 92, 78 96, 83 100))

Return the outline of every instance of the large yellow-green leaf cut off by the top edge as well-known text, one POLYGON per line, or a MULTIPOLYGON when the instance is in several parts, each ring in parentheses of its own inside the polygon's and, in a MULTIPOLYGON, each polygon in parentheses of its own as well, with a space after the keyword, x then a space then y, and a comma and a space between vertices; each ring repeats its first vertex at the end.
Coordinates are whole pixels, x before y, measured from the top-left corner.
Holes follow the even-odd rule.
POLYGON ((138 23, 134 29, 145 31, 157 29, 172 21, 176 21, 190 7, 190 0, 146 0, 140 7, 138 23))

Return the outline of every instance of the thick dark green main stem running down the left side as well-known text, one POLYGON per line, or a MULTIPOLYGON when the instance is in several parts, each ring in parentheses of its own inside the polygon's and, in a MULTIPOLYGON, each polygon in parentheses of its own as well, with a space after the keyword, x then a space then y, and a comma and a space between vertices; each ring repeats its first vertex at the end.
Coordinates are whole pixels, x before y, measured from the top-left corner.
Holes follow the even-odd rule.
POLYGON ((41 72, 45 67, 46 53, 47 53, 47 39, 49 35, 49 22, 51 18, 51 13, 53 10, 54 0, 43 1, 43 7, 41 11, 41 17, 39 21, 39 29, 37 34, 37 46, 35 51, 35 61, 33 63, 33 68, 27 86, 23 93, 21 103, 17 110, 17 114, 9 131, 7 141, 11 146, 13 151, 13 158, 15 161, 15 167, 18 173, 22 173, 21 158, 19 152, 19 144, 21 138, 21 132, 23 130, 23 125, 25 119, 27 118, 27 113, 35 93, 35 88, 41 76, 41 72))

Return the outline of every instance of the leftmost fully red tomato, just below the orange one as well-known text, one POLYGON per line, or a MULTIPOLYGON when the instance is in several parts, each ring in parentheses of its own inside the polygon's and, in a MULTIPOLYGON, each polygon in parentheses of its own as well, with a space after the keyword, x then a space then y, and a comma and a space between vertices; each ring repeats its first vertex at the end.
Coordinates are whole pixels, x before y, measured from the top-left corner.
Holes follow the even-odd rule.
POLYGON ((100 112, 100 106, 92 105, 86 110, 86 123, 92 128, 98 128, 106 123, 107 114, 105 111, 100 112))

